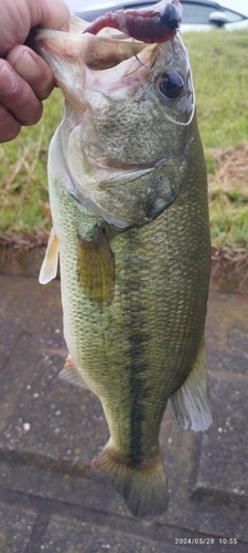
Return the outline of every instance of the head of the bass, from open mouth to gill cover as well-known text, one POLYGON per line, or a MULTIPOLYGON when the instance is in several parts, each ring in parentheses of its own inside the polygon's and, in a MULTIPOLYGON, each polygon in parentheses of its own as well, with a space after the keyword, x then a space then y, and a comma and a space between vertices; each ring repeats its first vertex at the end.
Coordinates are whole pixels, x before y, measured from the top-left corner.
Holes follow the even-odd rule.
POLYGON ((143 225, 174 201, 186 169, 195 98, 176 34, 144 44, 112 29, 40 30, 36 50, 66 103, 61 124, 65 187, 117 228, 143 225), (78 32, 78 30, 80 32, 78 32))

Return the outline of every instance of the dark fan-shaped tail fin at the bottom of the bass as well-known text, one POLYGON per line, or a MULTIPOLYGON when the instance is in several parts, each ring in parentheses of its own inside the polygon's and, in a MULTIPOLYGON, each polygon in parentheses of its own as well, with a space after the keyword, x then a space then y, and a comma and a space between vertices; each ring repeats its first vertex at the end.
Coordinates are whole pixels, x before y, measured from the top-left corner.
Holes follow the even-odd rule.
POLYGON ((130 466, 109 441, 91 461, 91 472, 123 497, 133 517, 154 517, 166 510, 168 486, 160 453, 145 465, 130 466))

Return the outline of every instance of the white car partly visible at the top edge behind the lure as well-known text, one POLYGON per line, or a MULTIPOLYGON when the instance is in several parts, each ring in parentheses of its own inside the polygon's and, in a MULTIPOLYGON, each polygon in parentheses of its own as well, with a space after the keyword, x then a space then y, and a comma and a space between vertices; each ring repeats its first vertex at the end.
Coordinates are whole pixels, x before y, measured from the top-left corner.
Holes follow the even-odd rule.
MULTIPOLYGON (((180 0, 183 7, 181 31, 207 31, 248 28, 248 0, 180 0)), ((108 11, 139 9, 152 6, 151 0, 66 0, 71 10, 86 21, 94 21, 108 11)))

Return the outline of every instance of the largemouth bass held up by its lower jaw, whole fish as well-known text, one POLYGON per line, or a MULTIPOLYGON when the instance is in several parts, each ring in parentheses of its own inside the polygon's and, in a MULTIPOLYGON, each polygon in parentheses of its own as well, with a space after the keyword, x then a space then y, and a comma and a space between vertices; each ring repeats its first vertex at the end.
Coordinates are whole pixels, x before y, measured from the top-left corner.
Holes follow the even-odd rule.
POLYGON ((144 44, 104 29, 40 31, 65 96, 50 147, 53 230, 40 281, 56 275, 61 377, 101 401, 110 438, 91 471, 138 517, 168 504, 160 425, 212 421, 204 326, 211 241, 204 154, 179 34, 144 44))

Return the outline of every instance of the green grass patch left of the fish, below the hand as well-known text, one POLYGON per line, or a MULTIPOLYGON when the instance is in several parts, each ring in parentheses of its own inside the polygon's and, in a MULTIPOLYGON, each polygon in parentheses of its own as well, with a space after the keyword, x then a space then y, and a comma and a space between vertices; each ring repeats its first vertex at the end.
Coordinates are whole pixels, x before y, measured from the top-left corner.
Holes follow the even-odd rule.
POLYGON ((48 231, 47 150, 63 114, 63 97, 55 90, 44 103, 43 117, 33 127, 0 144, 0 239, 48 231))

